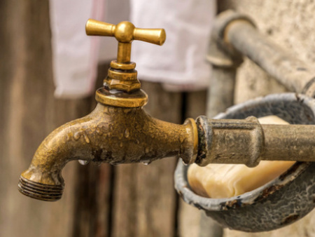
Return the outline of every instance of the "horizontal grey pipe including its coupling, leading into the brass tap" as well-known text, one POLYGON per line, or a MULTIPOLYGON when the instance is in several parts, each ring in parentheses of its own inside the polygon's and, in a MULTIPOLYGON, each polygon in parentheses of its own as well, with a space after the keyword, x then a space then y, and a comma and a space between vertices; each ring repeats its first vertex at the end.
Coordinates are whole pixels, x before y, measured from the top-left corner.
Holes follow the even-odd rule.
POLYGON ((239 163, 260 160, 315 161, 315 126, 261 125, 257 118, 197 118, 199 151, 195 163, 239 163))

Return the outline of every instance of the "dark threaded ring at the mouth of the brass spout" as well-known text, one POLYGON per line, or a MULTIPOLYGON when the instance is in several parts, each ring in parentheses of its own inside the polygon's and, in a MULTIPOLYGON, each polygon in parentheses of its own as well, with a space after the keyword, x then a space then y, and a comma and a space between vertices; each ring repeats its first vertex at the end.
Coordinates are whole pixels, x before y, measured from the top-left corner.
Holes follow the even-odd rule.
POLYGON ((57 201, 62 197, 64 187, 62 185, 41 184, 20 176, 19 191, 31 198, 42 201, 57 201))

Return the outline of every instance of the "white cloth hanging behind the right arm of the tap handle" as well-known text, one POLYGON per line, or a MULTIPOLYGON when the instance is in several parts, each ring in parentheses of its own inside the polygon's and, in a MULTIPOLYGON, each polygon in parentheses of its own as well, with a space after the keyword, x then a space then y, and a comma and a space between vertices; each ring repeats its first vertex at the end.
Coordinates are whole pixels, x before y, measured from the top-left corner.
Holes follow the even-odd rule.
POLYGON ((167 83, 171 90, 207 88, 211 69, 205 62, 215 0, 131 0, 136 27, 164 28, 163 46, 134 41, 132 62, 138 78, 167 83))

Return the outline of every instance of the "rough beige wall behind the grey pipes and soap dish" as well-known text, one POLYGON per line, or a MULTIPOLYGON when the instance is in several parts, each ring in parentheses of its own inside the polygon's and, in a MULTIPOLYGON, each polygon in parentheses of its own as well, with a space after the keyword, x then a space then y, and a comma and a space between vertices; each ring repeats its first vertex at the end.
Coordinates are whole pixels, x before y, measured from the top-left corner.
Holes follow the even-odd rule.
MULTIPOLYGON (((219 1, 219 8, 220 11, 235 9, 249 15, 262 34, 291 50, 304 62, 315 65, 315 1, 223 0, 219 1)), ((286 88, 250 60, 245 60, 237 73, 236 103, 285 91, 286 88)), ((299 222, 276 231, 243 233, 225 230, 224 236, 315 236, 315 211, 299 222)))

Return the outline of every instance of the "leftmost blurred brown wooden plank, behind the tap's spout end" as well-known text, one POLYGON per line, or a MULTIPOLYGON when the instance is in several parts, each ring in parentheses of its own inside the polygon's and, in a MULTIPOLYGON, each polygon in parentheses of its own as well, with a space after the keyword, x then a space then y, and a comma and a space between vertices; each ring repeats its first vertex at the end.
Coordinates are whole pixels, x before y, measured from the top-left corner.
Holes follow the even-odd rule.
POLYGON ((36 201, 17 190, 20 173, 45 136, 91 109, 92 97, 53 98, 48 10, 47 0, 0 1, 0 236, 73 232, 77 163, 64 168, 66 188, 58 202, 36 201))

